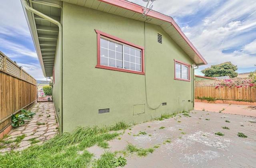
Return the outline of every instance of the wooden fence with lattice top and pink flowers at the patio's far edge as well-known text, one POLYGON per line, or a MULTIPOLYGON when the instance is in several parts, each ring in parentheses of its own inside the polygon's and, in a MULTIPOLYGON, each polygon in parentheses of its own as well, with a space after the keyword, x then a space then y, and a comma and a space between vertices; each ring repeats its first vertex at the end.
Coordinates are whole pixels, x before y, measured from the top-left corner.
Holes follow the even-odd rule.
POLYGON ((251 80, 252 78, 236 78, 195 81, 195 98, 256 102, 256 89, 252 87, 251 80))

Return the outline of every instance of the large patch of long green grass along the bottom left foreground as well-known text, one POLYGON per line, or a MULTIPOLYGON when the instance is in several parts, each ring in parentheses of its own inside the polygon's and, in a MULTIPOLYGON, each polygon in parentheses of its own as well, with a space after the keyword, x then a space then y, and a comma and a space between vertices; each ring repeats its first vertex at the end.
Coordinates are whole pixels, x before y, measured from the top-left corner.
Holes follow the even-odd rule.
MULTIPOLYGON (((0 155, 0 167, 4 168, 106 168, 114 167, 112 160, 115 154, 105 152, 98 160, 93 160, 93 154, 86 148, 94 145, 108 147, 107 141, 115 139, 120 133, 113 132, 124 129, 126 124, 116 123, 112 127, 78 127, 72 133, 63 133, 45 141, 42 145, 32 145, 20 152, 11 151, 0 155), (111 131, 111 132, 109 132, 111 131), (79 152, 83 152, 79 154, 79 152)), ((16 141, 21 141, 20 136, 16 141)), ((36 139, 29 139, 31 143, 36 143, 36 139)))

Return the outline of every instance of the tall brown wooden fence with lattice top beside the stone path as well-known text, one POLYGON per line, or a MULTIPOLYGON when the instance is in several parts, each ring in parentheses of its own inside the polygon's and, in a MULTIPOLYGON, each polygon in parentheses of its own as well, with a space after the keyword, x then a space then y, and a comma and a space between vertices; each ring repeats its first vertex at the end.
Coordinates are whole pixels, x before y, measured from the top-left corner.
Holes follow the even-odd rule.
POLYGON ((36 103, 36 80, 0 51, 0 133, 12 114, 36 103))

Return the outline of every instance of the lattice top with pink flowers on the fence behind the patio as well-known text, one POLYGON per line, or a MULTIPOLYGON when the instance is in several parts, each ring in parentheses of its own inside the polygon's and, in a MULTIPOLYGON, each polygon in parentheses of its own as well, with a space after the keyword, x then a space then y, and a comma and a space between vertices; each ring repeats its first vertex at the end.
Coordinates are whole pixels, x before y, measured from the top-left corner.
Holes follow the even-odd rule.
POLYGON ((252 78, 232 78, 195 81, 195 86, 243 86, 250 85, 252 78))

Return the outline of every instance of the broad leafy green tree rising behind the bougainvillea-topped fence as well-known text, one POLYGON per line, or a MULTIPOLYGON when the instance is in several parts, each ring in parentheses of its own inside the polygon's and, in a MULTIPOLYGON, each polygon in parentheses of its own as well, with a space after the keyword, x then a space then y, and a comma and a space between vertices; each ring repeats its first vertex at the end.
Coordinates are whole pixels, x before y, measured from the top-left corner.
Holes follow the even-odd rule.
POLYGON ((230 76, 234 78, 238 75, 237 66, 231 62, 226 62, 218 65, 212 65, 210 68, 205 68, 201 72, 207 77, 230 76))

